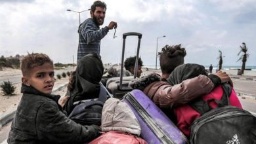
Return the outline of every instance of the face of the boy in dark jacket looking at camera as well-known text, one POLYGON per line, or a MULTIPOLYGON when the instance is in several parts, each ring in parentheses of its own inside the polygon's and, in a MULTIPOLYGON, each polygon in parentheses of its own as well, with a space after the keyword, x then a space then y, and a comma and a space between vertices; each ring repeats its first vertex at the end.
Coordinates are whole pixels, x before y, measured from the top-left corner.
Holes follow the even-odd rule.
POLYGON ((44 94, 51 94, 54 86, 53 65, 44 63, 34 67, 28 75, 22 77, 22 82, 27 86, 33 86, 44 94))

